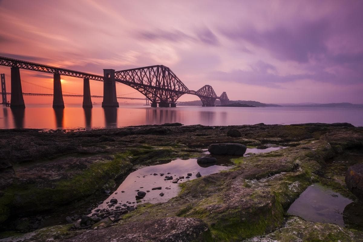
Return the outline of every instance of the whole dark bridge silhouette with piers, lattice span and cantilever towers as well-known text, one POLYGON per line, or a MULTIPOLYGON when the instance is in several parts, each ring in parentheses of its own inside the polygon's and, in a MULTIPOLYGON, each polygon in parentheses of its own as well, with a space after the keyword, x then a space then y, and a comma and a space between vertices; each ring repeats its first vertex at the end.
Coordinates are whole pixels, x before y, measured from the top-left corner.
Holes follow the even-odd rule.
POLYGON ((103 69, 103 76, 1 56, 0 65, 11 67, 11 93, 7 93, 5 75, 1 74, 1 94, 3 103, 6 102, 6 95, 11 95, 10 107, 12 108, 25 107, 23 95, 53 96, 53 107, 64 107, 63 96, 83 97, 83 107, 92 107, 91 97, 103 98, 102 107, 119 107, 118 98, 145 100, 143 98, 118 97, 116 95, 117 82, 131 86, 142 93, 146 100, 150 100, 151 107, 157 107, 158 104, 159 107, 176 107, 178 98, 184 94, 196 95, 202 101, 203 106, 207 107, 215 106, 216 99, 219 99, 221 104, 228 104, 229 101, 227 93, 223 92, 218 97, 209 85, 205 85, 197 91, 189 90, 170 68, 163 65, 121 71, 103 69), (23 93, 20 69, 52 73, 53 94, 23 93), (83 78, 83 95, 63 94, 61 75, 83 78), (103 82, 103 96, 91 96, 89 80, 103 82))

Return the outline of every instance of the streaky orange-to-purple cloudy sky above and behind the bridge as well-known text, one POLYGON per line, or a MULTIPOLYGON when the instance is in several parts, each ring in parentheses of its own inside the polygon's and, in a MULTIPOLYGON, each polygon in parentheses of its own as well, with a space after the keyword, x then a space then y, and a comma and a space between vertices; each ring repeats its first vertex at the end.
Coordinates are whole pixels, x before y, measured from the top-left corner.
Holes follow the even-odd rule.
MULTIPOLYGON (((0 56, 95 74, 161 64, 233 100, 363 103, 362 0, 0 0, 0 23, 0 56)), ((52 86, 51 75, 21 75, 52 86)), ((64 80, 82 92, 81 79, 64 80)))

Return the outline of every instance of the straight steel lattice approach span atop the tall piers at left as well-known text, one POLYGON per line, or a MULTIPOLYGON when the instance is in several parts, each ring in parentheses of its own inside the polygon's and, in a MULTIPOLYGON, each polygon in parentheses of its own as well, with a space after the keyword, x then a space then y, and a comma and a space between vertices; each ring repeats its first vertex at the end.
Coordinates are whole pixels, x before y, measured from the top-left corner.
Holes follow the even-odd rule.
POLYGON ((68 69, 58 68, 58 67, 54 67, 54 66, 42 65, 42 64, 38 64, 38 63, 34 63, 34 62, 29 62, 29 61, 21 61, 21 60, 16 60, 16 59, 12 59, 12 58, 2 57, 2 56, 0 56, 0 65, 18 67, 21 69, 41 71, 41 72, 52 73, 52 74, 61 74, 61 75, 69 76, 69 77, 88 78, 90 80, 103 81, 102 75, 94 75, 94 74, 90 74, 90 73, 68 70, 68 69))

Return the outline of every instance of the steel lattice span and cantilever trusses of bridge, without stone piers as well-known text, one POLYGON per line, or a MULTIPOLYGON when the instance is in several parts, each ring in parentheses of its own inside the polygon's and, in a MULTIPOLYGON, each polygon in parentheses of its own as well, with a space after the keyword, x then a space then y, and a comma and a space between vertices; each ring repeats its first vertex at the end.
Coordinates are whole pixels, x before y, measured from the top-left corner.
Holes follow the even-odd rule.
MULTIPOLYGON (((0 65, 95 81, 104 81, 102 75, 84 73, 81 71, 42 65, 7 57, 0 57, 0 65)), ((216 99, 220 99, 222 104, 227 104, 229 101, 225 92, 218 97, 213 88, 209 85, 205 85, 197 91, 189 90, 170 68, 163 65, 115 71, 114 79, 116 82, 123 83, 138 90, 150 99, 152 102, 151 105, 159 103, 159 106, 169 106, 169 104, 175 106, 178 98, 184 94, 198 96, 201 99, 203 106, 214 106, 216 99)), ((108 94, 104 93, 103 95, 105 96, 108 94)))

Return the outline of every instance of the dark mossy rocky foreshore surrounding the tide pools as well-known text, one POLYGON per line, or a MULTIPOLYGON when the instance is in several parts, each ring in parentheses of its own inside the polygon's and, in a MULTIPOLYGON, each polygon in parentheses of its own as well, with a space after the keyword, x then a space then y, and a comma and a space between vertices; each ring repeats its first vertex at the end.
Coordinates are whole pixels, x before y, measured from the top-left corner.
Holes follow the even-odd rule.
POLYGON ((0 130, 0 241, 363 241, 349 216, 343 229, 286 213, 313 182, 362 207, 344 181, 362 154, 363 128, 347 123, 0 130), (270 144, 287 148, 242 156, 270 144), (167 202, 141 202, 145 191, 94 209, 135 165, 177 158, 234 166, 181 183, 163 174, 180 186, 167 202))

